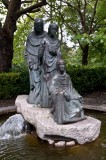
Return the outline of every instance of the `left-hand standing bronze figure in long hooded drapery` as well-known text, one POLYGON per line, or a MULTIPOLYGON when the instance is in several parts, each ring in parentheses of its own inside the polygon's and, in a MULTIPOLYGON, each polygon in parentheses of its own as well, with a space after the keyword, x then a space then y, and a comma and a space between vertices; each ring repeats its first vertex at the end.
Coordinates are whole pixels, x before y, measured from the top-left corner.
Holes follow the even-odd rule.
POLYGON ((43 29, 43 20, 37 18, 34 20, 34 31, 32 31, 26 42, 25 58, 29 67, 30 93, 27 102, 30 104, 40 104, 41 101, 41 62, 39 56, 39 47, 46 32, 43 29))

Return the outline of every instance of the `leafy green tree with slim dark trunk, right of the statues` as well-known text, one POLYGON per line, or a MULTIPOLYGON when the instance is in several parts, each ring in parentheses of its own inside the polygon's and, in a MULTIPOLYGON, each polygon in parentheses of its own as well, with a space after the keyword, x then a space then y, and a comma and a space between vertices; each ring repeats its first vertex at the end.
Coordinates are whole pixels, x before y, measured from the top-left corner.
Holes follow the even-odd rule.
POLYGON ((105 0, 53 0, 52 4, 49 2, 48 11, 48 17, 60 24, 62 32, 67 31, 71 40, 79 44, 82 65, 87 65, 89 49, 93 43, 97 44, 98 34, 106 25, 105 0))

